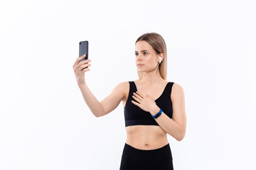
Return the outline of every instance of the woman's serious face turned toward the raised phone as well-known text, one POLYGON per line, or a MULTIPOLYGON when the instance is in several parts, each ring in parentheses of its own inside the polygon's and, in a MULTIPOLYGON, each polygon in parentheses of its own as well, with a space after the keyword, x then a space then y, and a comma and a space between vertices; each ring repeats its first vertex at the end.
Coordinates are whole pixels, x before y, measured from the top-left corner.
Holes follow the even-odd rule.
POLYGON ((135 62, 139 72, 152 71, 158 66, 159 57, 148 42, 142 40, 135 44, 135 62), (138 65, 142 64, 142 65, 138 65))

